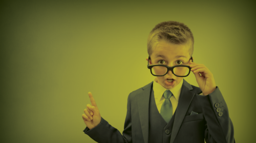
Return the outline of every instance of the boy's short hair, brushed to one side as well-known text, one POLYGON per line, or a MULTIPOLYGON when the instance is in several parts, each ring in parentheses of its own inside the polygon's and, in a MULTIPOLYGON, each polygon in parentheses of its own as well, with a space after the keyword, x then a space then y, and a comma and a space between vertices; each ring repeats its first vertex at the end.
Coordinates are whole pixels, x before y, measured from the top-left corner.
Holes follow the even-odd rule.
POLYGON ((190 29, 181 22, 165 21, 157 24, 147 38, 147 53, 151 55, 152 48, 161 40, 172 44, 186 44, 189 42, 189 55, 194 51, 194 37, 190 29))

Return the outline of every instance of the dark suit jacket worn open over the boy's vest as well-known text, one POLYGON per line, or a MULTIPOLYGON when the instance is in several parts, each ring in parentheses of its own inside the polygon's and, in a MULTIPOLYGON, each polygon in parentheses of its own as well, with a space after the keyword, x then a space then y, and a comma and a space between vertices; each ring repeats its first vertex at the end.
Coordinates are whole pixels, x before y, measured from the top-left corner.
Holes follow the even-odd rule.
MULTIPOLYGON (((152 85, 153 82, 128 96, 122 134, 103 118, 93 129, 84 129, 84 133, 97 142, 148 142, 148 112, 152 85)), ((203 138, 206 142, 235 142, 233 124, 219 88, 216 87, 215 91, 207 96, 199 95, 200 93, 200 88, 183 79, 170 143, 204 142, 203 138), (221 111, 218 109, 218 112, 217 108, 221 111), (198 114, 190 115, 191 111, 198 114)))

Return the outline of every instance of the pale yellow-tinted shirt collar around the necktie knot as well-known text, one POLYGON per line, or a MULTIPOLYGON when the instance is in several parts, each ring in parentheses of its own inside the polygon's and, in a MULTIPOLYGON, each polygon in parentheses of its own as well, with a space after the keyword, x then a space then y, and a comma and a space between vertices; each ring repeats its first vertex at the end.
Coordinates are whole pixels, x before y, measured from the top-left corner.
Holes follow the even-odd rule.
MULTIPOLYGON (((169 89, 169 91, 173 93, 177 101, 179 101, 179 98, 180 98, 182 84, 183 84, 183 79, 180 81, 180 83, 176 87, 169 89)), ((165 89, 161 84, 159 84, 157 82, 157 77, 156 77, 153 82, 153 90, 154 90, 154 96, 156 100, 159 102, 163 96, 163 93, 168 89, 165 89)))

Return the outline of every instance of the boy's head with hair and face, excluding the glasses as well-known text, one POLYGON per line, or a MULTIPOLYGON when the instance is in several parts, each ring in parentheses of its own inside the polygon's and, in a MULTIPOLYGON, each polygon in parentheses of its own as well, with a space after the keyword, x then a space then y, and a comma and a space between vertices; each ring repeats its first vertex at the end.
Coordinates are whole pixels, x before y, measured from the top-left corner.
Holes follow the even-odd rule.
MULTIPOLYGON (((185 24, 176 21, 157 24, 147 39, 150 65, 188 65, 193 50, 193 34, 185 24)), ((169 71, 164 76, 157 76, 157 79, 164 88, 171 89, 176 87, 183 77, 177 77, 169 71)))

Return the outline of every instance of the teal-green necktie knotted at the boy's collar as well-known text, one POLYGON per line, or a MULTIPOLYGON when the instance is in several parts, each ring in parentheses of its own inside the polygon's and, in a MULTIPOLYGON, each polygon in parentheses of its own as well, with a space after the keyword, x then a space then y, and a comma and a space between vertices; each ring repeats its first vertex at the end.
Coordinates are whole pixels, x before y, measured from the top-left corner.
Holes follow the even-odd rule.
POLYGON ((173 95, 172 92, 169 90, 166 90, 163 93, 163 96, 165 98, 165 101, 162 104, 160 115, 163 117, 166 123, 169 123, 170 119, 173 117, 173 106, 172 102, 170 102, 170 97, 173 95))

